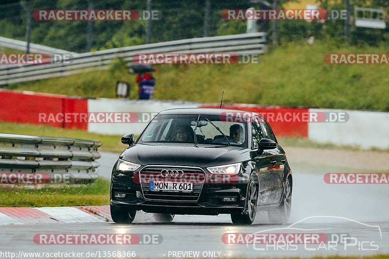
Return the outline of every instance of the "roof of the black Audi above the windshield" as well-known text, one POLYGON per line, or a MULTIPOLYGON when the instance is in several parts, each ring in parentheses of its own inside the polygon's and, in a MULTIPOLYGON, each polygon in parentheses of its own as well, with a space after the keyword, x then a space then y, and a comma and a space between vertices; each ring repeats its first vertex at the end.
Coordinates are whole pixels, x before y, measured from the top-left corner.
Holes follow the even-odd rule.
MULTIPOLYGON (((245 118, 251 118, 254 115, 261 116, 258 113, 250 112, 250 111, 244 111, 244 110, 233 110, 233 109, 218 109, 218 108, 175 108, 175 109, 168 109, 159 112, 158 115, 179 115, 179 114, 202 114, 202 115, 226 115, 226 112, 233 112, 233 115, 245 116, 245 118)), ((262 116, 261 116, 262 117, 262 116)))

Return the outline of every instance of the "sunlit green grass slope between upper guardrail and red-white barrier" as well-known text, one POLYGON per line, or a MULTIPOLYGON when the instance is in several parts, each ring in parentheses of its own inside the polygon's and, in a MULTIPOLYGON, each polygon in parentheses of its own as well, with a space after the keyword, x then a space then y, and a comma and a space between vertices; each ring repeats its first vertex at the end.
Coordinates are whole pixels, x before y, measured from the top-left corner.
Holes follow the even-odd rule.
MULTIPOLYGON (((309 106, 389 111, 387 66, 329 65, 328 53, 385 53, 385 47, 354 47, 344 43, 292 42, 261 57, 259 64, 156 66, 155 99, 225 103, 309 106), (282 96, 280 94, 282 93, 282 96)), ((105 71, 11 84, 9 89, 114 98, 117 81, 131 84, 135 75, 116 60, 105 71), (58 84, 60 82, 60 84, 58 84)))

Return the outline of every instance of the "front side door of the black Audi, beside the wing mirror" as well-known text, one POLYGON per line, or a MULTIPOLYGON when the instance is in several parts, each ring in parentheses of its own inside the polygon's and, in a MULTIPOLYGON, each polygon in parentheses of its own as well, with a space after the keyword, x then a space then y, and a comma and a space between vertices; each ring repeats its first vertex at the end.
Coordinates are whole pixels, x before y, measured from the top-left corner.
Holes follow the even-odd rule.
MULTIPOLYGON (((253 117, 251 121, 251 147, 253 150, 258 150, 258 143, 263 138, 263 130, 260 125, 260 118, 253 117)), ((268 205, 274 203, 274 176, 268 169, 271 166, 270 158, 265 154, 257 155, 252 159, 254 162, 254 171, 259 177, 259 196, 258 205, 268 205)))

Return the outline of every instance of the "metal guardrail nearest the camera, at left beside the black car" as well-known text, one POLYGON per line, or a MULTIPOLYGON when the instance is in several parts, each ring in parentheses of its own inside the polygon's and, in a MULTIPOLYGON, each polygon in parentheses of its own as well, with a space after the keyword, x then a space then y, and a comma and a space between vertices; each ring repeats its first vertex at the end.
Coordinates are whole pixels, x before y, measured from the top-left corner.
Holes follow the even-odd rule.
POLYGON ((101 141, 0 134, 0 173, 50 174, 52 182, 91 182, 101 141))

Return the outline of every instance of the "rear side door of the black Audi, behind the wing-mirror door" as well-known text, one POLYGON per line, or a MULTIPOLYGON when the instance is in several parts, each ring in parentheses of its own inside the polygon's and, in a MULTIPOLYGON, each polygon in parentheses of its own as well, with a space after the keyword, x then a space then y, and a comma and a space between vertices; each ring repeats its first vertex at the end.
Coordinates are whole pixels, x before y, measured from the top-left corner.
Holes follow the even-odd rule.
MULTIPOLYGON (((277 139, 275 138, 269 123, 265 120, 262 120, 260 124, 264 138, 268 138, 277 142, 277 139)), ((277 145, 277 148, 275 149, 265 150, 263 155, 265 155, 270 162, 267 170, 269 171, 269 175, 274 182, 274 203, 278 203, 283 195, 284 163, 286 162, 286 155, 281 152, 279 145, 277 145)))

